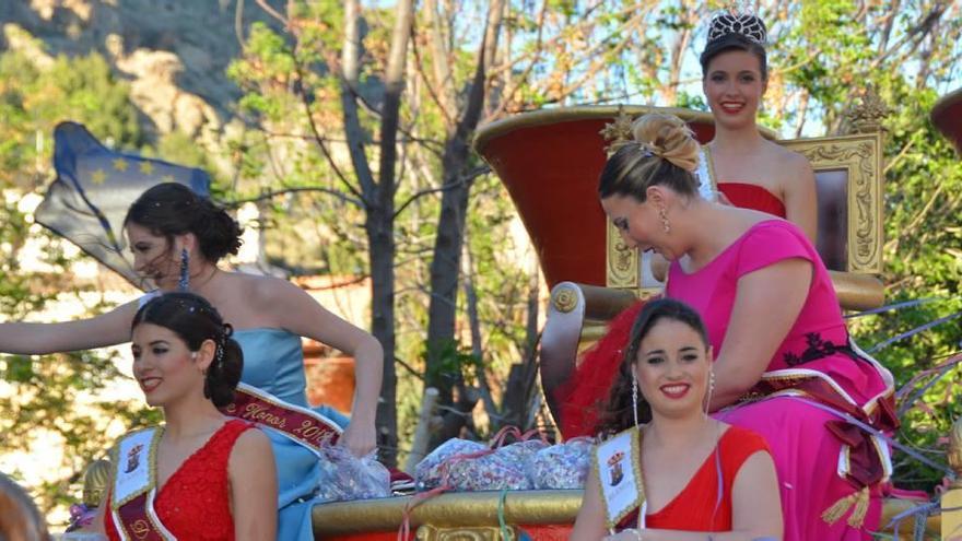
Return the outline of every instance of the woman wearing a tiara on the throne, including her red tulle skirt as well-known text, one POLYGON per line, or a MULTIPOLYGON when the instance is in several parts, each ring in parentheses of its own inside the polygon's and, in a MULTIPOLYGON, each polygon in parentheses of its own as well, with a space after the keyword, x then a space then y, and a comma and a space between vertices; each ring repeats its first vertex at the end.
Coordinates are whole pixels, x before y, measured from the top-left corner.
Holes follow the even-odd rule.
MULTIPOLYGON (((703 148, 697 172, 709 177, 700 178, 702 183, 717 187, 720 202, 787 219, 814 243, 818 213, 812 168, 801 154, 763 138, 756 124, 769 80, 765 36, 764 23, 754 15, 724 13, 712 20, 700 60, 702 90, 715 117, 715 138, 703 148)), ((667 262, 656 257, 653 267, 655 275, 664 279, 667 262)), ((585 353, 576 375, 558 391, 565 438, 595 434, 599 404, 608 396, 643 304, 611 320, 608 333, 585 353)))

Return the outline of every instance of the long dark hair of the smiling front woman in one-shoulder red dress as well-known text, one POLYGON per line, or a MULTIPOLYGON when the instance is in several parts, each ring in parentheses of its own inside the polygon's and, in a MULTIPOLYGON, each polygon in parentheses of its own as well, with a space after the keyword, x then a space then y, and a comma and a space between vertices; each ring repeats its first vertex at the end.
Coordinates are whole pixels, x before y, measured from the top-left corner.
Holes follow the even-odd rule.
MULTIPOLYGON (((632 369, 638 360, 638 349, 655 325, 662 319, 679 321, 699 333, 705 349, 708 348, 708 332, 705 330, 705 324, 702 321, 699 313, 694 308, 681 301, 673 298, 657 298, 648 301, 635 318, 632 325, 631 337, 627 346, 624 349, 624 357, 618 368, 618 375, 614 377, 614 384, 611 386, 611 392, 608 403, 601 412, 598 421, 597 432, 606 434, 615 434, 634 426, 634 414, 632 413, 632 369)), ((644 397, 638 393, 638 422, 647 423, 652 420, 652 408, 644 397)))

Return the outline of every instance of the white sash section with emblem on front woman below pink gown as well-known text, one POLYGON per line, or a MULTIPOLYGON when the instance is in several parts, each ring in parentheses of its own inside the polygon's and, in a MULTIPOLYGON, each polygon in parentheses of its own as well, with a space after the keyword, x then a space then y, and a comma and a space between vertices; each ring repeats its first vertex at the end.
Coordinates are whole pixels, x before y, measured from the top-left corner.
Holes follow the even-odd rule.
POLYGON ((605 522, 614 528, 645 502, 638 428, 629 428, 598 444, 593 466, 601 486, 605 522))

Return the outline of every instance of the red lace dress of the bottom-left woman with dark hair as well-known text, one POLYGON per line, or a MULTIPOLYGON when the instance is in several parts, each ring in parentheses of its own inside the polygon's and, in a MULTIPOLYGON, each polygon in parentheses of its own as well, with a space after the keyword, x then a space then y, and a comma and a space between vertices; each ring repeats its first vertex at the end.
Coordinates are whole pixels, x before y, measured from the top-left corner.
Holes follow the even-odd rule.
MULTIPOLYGON (((179 541, 234 539, 227 462, 237 437, 253 427, 237 419, 227 421, 157 491, 157 517, 179 541)), ((109 509, 109 495, 106 505, 109 509)), ((120 541, 110 513, 104 515, 104 527, 110 541, 120 541)))

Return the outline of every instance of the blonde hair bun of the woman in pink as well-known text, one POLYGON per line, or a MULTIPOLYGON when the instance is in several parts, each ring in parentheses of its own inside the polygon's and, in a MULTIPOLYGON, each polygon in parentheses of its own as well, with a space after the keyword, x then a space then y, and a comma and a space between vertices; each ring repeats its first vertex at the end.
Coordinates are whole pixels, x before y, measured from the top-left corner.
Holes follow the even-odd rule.
POLYGON ((694 172, 699 165, 699 142, 684 120, 660 113, 644 115, 632 124, 638 145, 682 169, 694 172))

